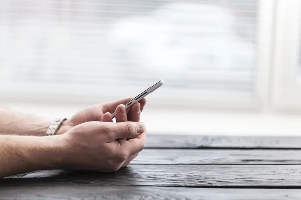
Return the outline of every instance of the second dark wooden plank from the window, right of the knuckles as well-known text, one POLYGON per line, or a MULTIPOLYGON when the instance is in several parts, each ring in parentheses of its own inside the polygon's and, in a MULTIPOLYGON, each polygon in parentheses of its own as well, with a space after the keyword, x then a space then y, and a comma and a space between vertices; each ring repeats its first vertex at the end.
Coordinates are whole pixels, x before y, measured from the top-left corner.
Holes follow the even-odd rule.
POLYGON ((301 164, 301 150, 144 149, 132 164, 301 164))

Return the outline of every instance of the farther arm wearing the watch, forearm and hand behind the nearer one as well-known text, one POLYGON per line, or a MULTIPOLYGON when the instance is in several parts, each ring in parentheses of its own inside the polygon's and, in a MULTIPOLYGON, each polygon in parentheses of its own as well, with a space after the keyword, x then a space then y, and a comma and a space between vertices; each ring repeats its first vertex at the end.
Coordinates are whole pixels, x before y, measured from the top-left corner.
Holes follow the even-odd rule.
MULTIPOLYGON (((142 99, 139 103, 135 103, 131 108, 126 110, 127 114, 124 115, 124 110, 121 109, 122 105, 120 104, 125 104, 130 99, 131 98, 126 98, 116 102, 92 105, 87 109, 79 111, 69 120, 63 122, 57 135, 67 132, 76 125, 89 121, 102 120, 104 122, 111 122, 112 119, 110 113, 114 111, 116 111, 116 122, 138 122, 140 113, 146 104, 146 99, 142 99)), ((50 120, 14 113, 3 108, 0 108, 0 116, 0 135, 46 136, 46 130, 51 124, 50 120)))

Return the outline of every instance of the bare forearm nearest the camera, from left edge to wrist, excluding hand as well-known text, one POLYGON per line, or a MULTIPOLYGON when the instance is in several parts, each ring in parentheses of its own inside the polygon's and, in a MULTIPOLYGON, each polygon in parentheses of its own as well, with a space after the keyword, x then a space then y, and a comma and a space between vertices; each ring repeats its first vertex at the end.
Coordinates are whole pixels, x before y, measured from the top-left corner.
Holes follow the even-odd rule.
POLYGON ((62 136, 0 135, 0 178, 60 168, 64 147, 62 136))

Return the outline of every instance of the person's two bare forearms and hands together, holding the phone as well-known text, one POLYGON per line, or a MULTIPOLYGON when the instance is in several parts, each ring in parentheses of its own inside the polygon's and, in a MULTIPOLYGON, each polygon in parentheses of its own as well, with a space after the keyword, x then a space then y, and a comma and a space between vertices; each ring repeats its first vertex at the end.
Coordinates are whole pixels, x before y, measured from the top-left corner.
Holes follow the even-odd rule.
POLYGON ((125 110, 122 104, 129 100, 90 106, 65 121, 59 135, 49 137, 43 137, 48 121, 0 110, 6 116, 0 119, 0 131, 33 135, 0 135, 0 178, 43 169, 111 172, 127 166, 146 139, 145 126, 137 123, 146 100, 125 110), (111 123, 114 110, 117 123, 111 123))

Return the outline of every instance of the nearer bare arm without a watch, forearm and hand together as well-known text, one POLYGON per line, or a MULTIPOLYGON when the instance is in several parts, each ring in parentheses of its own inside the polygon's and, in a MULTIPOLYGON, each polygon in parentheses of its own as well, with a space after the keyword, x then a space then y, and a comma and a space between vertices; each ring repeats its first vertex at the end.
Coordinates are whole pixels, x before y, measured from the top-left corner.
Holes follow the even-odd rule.
POLYGON ((145 139, 145 126, 136 122, 86 122, 49 137, 0 135, 0 178, 57 168, 114 172, 137 156, 145 139))

